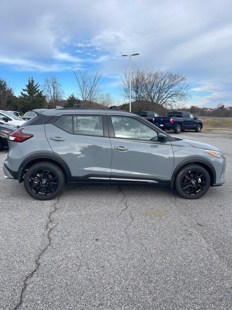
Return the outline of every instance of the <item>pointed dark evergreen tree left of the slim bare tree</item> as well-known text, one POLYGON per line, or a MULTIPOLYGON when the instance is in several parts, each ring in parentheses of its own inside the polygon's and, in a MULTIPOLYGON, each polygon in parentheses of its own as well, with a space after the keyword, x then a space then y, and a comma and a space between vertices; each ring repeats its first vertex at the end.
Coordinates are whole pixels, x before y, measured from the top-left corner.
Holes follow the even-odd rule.
POLYGON ((28 79, 28 84, 19 96, 20 110, 27 112, 33 109, 42 109, 46 105, 46 98, 40 90, 39 83, 35 84, 34 78, 28 79))

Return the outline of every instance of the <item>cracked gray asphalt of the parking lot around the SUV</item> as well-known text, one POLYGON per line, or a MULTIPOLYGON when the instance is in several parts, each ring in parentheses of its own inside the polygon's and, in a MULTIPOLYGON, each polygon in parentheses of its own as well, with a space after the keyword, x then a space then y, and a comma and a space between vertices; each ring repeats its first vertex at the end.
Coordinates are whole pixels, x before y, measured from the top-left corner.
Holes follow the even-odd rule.
POLYGON ((72 185, 41 202, 0 169, 0 309, 232 309, 232 136, 178 137, 224 152, 223 186, 190 201, 72 185))

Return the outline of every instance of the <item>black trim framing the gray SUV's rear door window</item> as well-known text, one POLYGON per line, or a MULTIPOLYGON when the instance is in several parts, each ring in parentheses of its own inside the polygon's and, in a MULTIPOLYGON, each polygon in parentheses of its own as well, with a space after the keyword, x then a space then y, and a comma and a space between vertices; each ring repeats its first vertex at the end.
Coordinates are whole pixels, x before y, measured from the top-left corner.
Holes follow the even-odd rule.
POLYGON ((56 115, 58 116, 58 118, 56 117, 53 122, 51 124, 53 124, 54 126, 56 126, 57 128, 59 128, 60 130, 63 130, 64 132, 67 132, 70 135, 73 136, 87 136, 87 137, 101 137, 101 138, 105 138, 105 137, 109 137, 109 132, 108 132, 108 127, 107 127, 107 120, 106 120, 106 114, 92 114, 92 113, 65 113, 65 114, 60 114, 60 115, 56 115), (85 134, 75 134, 74 133, 74 121, 73 118, 75 115, 86 115, 86 116, 101 116, 102 117, 102 129, 103 129, 103 135, 102 136, 98 136, 98 135, 85 135, 85 134), (61 116, 72 116, 72 122, 73 122, 73 132, 69 132, 63 128, 60 128, 59 126, 57 126, 55 123, 56 121, 61 117, 61 116))

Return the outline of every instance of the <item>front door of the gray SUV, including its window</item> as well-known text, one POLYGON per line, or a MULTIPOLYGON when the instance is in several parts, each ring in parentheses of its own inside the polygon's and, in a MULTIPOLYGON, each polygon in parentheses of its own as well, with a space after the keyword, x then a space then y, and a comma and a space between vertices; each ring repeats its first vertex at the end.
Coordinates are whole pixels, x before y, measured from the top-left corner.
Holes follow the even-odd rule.
POLYGON ((174 165, 170 141, 160 142, 158 132, 134 117, 110 116, 112 126, 111 181, 166 183, 174 165))

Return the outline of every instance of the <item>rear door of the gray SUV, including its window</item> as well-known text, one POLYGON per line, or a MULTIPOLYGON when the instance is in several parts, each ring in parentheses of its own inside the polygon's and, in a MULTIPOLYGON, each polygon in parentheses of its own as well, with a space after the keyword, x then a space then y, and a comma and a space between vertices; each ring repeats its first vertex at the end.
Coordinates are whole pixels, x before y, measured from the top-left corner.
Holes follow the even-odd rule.
POLYGON ((73 181, 110 180, 112 148, 106 115, 60 115, 45 124, 47 140, 69 166, 73 181))

